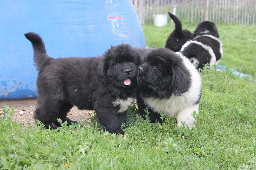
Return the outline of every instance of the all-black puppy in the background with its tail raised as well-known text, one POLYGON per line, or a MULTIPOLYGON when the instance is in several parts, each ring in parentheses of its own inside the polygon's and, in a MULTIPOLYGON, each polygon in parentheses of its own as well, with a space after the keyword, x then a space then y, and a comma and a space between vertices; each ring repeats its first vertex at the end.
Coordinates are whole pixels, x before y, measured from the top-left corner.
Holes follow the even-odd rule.
POLYGON ((165 48, 168 48, 174 52, 178 52, 180 51, 182 45, 184 45, 187 41, 192 40, 194 38, 194 35, 190 31, 182 29, 182 24, 178 17, 176 17, 170 12, 168 13, 175 23, 175 29, 169 35, 165 43, 165 48))

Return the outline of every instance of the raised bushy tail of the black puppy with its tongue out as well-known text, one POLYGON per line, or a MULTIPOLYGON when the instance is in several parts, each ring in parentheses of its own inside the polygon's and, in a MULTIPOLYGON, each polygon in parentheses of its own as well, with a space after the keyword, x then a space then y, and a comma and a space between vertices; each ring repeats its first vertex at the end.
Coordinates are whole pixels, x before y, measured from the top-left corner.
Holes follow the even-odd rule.
POLYGON ((34 62, 37 67, 36 69, 40 70, 40 68, 42 68, 42 65, 44 65, 49 60, 52 60, 53 58, 49 57, 46 54, 44 42, 37 33, 29 32, 29 33, 25 33, 24 35, 31 42, 33 46, 34 62))

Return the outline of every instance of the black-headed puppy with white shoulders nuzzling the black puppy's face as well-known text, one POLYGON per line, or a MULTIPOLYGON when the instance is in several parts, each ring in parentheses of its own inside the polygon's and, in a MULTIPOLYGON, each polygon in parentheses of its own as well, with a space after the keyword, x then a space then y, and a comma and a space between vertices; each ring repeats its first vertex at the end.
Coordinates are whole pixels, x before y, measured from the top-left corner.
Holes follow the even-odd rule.
POLYGON ((190 129, 195 127, 192 113, 198 114, 202 93, 196 68, 188 58, 166 48, 149 49, 143 58, 138 76, 139 114, 146 115, 144 108, 148 107, 151 122, 159 121, 159 113, 164 112, 164 116, 177 115, 178 127, 182 122, 190 129))

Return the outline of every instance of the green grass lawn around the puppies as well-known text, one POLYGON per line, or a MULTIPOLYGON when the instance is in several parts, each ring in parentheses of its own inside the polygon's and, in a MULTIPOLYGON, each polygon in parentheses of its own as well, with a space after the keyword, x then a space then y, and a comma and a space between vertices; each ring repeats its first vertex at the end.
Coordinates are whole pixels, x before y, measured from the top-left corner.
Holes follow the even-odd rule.
MULTIPOLYGON (((193 31, 196 26, 183 27, 193 31)), ((255 79, 256 28, 217 27, 224 53, 220 64, 255 79)), ((173 28, 143 25, 147 46, 164 47, 173 28)), ((24 128, 12 122, 12 110, 5 107, 0 169, 256 168, 256 82, 228 70, 200 74, 203 93, 192 130, 177 128, 176 118, 163 124, 141 120, 135 106, 128 110, 124 136, 102 131, 95 116, 82 128, 63 123, 59 132, 42 125, 24 128)))

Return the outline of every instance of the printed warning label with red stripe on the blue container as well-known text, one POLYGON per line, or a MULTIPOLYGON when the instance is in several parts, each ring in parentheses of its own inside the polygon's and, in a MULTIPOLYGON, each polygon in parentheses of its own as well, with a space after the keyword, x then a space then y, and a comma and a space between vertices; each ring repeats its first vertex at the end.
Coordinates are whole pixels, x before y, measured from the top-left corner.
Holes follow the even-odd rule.
POLYGON ((111 26, 114 40, 127 40, 128 29, 125 18, 118 0, 105 0, 105 8, 108 14, 109 25, 111 26))

